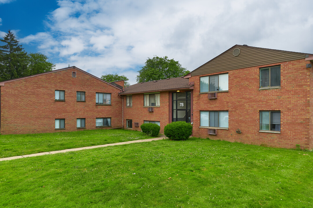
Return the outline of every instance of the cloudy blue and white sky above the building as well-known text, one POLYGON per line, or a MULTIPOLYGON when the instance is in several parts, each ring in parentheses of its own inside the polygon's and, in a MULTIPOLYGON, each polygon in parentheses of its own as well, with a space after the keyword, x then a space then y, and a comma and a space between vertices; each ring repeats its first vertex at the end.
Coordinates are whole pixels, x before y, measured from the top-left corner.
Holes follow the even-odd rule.
POLYGON ((0 0, 0 36, 13 31, 56 69, 76 66, 136 83, 148 57, 192 71, 239 44, 313 53, 311 0, 0 0))

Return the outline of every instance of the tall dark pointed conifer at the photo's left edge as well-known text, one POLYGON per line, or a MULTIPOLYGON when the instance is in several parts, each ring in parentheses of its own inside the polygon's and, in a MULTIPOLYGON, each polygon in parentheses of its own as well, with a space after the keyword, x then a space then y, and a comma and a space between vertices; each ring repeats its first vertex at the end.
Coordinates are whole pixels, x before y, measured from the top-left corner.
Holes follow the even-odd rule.
POLYGON ((14 34, 8 31, 0 46, 0 80, 27 76, 27 53, 18 44, 14 34))

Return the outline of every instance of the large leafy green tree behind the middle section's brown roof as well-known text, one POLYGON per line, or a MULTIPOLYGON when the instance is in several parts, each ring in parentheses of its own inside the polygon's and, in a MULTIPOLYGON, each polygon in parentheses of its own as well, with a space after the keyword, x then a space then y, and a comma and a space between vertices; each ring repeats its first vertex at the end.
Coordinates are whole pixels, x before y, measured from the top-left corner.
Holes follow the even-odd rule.
POLYGON ((152 59, 148 57, 141 70, 138 71, 137 82, 148 82, 153 80, 163 80, 167 78, 179 77, 188 74, 186 68, 183 68, 178 61, 169 60, 167 56, 155 56, 152 59))

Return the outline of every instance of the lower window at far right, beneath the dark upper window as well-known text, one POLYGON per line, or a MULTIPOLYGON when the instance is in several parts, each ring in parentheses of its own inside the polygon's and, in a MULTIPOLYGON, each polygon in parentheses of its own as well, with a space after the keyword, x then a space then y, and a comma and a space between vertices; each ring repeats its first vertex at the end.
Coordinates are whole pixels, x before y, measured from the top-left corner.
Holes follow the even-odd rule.
POLYGON ((280 131, 280 111, 260 111, 261 131, 280 131))

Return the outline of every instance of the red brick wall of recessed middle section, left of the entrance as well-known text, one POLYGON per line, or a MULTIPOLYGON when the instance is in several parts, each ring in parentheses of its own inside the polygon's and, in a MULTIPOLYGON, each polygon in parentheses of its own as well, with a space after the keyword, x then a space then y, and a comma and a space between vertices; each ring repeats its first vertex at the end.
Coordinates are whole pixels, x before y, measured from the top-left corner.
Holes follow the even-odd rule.
POLYGON ((160 121, 160 133, 164 133, 164 126, 169 123, 169 93, 160 93, 160 107, 154 107, 153 112, 148 112, 147 107, 143 107, 143 94, 132 95, 132 107, 126 107, 126 95, 124 97, 124 128, 126 128, 126 119, 132 120, 132 129, 141 131, 140 125, 143 121, 160 121), (139 122, 139 127, 134 126, 134 122, 139 122))

